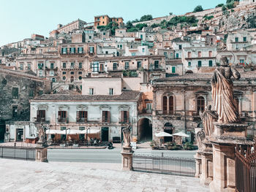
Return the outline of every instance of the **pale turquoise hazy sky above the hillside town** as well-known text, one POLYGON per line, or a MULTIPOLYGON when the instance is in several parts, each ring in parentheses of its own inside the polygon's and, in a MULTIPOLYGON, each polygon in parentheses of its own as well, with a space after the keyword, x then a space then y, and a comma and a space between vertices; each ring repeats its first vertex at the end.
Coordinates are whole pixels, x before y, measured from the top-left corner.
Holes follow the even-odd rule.
POLYGON ((0 0, 0 46, 18 42, 31 34, 49 36, 59 23, 72 20, 94 21, 94 15, 140 19, 151 14, 154 18, 169 12, 181 15, 197 5, 203 9, 215 7, 226 0, 0 0))

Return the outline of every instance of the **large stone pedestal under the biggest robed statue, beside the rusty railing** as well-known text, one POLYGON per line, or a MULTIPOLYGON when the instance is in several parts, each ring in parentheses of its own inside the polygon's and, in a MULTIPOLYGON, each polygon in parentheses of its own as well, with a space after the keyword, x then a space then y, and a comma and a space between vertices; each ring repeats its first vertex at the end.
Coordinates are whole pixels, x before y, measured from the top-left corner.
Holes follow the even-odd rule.
POLYGON ((249 145, 245 124, 214 123, 213 145, 214 178, 211 192, 236 191, 235 146, 249 145))

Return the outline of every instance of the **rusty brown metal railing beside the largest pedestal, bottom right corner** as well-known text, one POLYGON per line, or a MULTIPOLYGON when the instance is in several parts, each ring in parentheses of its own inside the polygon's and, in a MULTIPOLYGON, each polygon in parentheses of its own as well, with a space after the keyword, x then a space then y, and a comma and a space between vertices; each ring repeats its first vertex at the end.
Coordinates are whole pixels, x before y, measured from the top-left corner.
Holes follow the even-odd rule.
POLYGON ((236 191, 256 191, 256 145, 236 146, 236 191))

